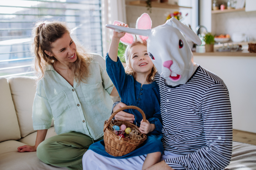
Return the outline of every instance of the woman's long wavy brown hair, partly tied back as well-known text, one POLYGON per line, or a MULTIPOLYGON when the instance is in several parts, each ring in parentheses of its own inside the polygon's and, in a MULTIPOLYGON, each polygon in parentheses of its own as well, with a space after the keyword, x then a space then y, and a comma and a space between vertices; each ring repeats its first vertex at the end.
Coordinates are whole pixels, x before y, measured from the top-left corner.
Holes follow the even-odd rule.
MULTIPOLYGON (((57 59, 50 57, 44 51, 52 52, 52 42, 61 38, 65 33, 70 34, 70 29, 64 22, 60 21, 44 21, 37 22, 32 30, 34 42, 32 43, 32 52, 35 54, 34 69, 38 75, 38 80, 44 77, 45 68, 47 65, 54 65, 57 59)), ((76 42, 75 62, 69 64, 69 69, 72 72, 76 82, 80 82, 89 77, 88 66, 92 57, 85 52, 85 49, 79 42, 76 42)))

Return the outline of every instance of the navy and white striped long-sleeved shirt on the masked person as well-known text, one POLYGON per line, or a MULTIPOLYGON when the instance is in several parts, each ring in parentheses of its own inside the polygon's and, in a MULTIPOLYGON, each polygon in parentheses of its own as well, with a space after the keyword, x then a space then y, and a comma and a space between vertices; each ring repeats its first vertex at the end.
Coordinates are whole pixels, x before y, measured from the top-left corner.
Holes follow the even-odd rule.
POLYGON ((163 147, 183 155, 166 159, 175 170, 221 170, 232 154, 229 93, 215 74, 198 66, 184 85, 167 86, 159 74, 163 147))

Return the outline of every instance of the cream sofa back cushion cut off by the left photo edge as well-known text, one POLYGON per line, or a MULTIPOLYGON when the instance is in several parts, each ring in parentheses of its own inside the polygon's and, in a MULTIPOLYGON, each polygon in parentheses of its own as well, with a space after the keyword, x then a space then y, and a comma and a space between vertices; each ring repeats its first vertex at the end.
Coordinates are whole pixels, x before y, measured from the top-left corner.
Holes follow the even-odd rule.
POLYGON ((20 139, 20 128, 7 79, 0 78, 0 142, 20 139))

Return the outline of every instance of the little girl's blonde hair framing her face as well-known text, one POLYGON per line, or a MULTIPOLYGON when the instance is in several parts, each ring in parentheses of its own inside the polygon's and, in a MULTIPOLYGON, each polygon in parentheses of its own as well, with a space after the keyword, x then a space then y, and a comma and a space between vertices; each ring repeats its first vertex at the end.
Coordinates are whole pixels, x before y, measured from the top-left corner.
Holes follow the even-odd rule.
MULTIPOLYGON (((135 45, 145 45, 145 46, 147 46, 147 41, 146 40, 141 40, 141 39, 136 40, 131 44, 130 48, 127 51, 127 62, 126 62, 126 66, 125 66, 125 73, 132 75, 134 77, 134 79, 136 79, 136 72, 131 67, 130 57, 131 57, 131 48, 134 47, 135 45)), ((156 73, 157 73, 157 69, 153 65, 153 67, 151 69, 151 73, 148 74, 148 77, 146 79, 148 83, 153 82, 154 76, 156 75, 156 73)))

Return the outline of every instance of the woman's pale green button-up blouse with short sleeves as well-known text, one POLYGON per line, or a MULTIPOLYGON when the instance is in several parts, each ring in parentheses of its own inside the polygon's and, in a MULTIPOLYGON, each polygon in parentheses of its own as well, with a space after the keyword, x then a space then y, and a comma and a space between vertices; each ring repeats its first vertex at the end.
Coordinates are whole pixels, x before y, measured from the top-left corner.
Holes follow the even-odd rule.
POLYGON ((90 75, 73 87, 47 65, 45 75, 37 83, 33 104, 34 130, 49 129, 52 118, 57 134, 84 133, 94 140, 103 136, 104 121, 111 115, 114 87, 106 71, 105 59, 91 53, 90 75))

